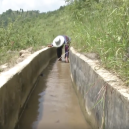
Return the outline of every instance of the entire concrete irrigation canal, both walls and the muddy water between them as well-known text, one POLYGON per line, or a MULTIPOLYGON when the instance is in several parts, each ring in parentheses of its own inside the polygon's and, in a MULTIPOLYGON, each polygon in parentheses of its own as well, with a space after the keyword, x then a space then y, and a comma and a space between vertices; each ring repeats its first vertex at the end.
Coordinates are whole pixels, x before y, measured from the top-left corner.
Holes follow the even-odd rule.
POLYGON ((70 49, 44 48, 0 75, 0 129, 129 129, 129 95, 116 76, 70 49))

